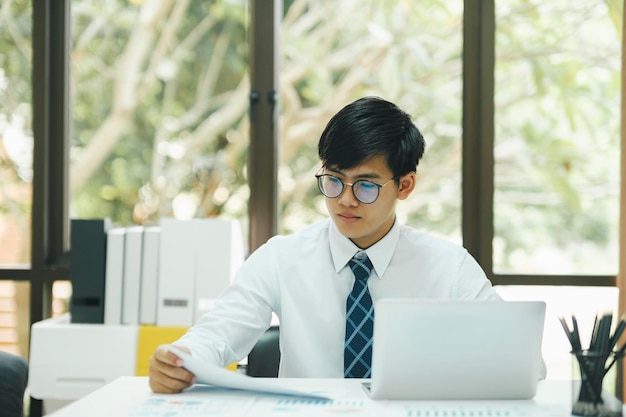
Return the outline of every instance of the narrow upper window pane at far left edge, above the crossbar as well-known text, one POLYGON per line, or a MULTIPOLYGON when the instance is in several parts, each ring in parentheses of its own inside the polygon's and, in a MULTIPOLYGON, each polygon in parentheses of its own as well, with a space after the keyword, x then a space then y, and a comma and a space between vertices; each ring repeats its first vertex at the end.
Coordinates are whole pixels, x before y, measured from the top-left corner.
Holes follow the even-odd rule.
POLYGON ((0 16, 0 265, 30 263, 33 131, 30 2, 0 16))

